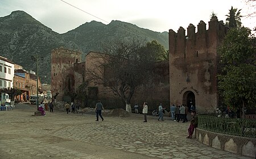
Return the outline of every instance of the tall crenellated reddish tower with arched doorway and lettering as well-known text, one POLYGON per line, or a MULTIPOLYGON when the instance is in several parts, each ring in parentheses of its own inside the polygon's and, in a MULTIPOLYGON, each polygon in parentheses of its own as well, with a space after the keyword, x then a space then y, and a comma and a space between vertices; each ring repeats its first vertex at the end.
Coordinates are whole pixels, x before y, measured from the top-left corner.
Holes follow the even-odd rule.
POLYGON ((217 47, 226 30, 214 16, 208 30, 200 21, 197 32, 189 24, 187 36, 182 27, 169 31, 171 104, 193 104, 200 113, 217 107, 217 47))

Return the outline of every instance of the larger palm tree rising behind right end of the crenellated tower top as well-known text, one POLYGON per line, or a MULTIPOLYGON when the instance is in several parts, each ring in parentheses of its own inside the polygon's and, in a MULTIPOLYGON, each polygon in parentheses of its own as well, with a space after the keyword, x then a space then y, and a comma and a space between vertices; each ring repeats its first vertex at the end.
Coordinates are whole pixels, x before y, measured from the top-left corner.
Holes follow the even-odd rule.
POLYGON ((229 10, 229 14, 226 15, 226 25, 230 28, 241 28, 241 9, 237 11, 237 9, 233 9, 233 6, 229 10))

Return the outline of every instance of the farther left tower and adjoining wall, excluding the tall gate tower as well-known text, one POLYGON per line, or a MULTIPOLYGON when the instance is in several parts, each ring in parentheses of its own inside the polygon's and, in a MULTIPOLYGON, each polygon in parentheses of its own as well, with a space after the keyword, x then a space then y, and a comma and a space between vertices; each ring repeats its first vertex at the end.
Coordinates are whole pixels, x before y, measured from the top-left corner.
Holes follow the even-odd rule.
MULTIPOLYGON (((89 52, 85 56, 85 62, 81 61, 81 53, 69 49, 57 48, 51 53, 52 60, 52 95, 57 92, 57 101, 63 101, 69 90, 76 91, 77 87, 84 81, 88 83, 88 102, 86 106, 94 107, 97 99, 104 103, 106 108, 125 108, 125 103, 108 89, 103 83, 93 82, 86 76, 86 70, 98 70, 98 62, 101 61, 104 53, 89 52), (77 61, 77 62, 75 62, 77 61), (80 63, 79 63, 80 62, 80 63), (70 81, 70 82, 68 82, 70 81), (70 86, 68 86, 70 83, 70 86)), ((168 61, 156 62, 152 72, 152 81, 148 85, 135 90, 131 105, 138 103, 142 106, 144 101, 150 103, 150 110, 154 110, 161 102, 164 106, 169 106, 169 63, 168 61)), ((102 71, 102 70, 98 70, 102 71)))

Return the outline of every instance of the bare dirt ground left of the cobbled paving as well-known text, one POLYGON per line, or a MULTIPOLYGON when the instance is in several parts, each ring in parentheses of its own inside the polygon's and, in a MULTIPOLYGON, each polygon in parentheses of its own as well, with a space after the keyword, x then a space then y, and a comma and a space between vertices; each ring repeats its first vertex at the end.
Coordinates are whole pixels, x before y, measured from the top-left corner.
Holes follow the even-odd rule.
MULTIPOLYGON (((150 158, 105 147, 100 142, 90 144, 55 135, 69 125, 95 123, 94 115, 67 115, 55 110, 47 111, 46 116, 32 116, 34 110, 35 105, 18 104, 12 111, 0 111, 0 158, 150 158)), ((117 111, 114 116, 124 113, 117 111)))

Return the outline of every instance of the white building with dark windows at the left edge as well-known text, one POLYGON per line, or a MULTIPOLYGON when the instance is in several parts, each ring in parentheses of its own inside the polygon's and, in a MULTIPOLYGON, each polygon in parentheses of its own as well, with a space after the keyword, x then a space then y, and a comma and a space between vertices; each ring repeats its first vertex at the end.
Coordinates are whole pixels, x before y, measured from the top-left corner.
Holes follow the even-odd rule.
POLYGON ((0 89, 12 88, 14 78, 14 63, 0 56, 0 89))

